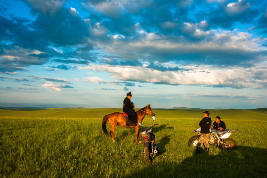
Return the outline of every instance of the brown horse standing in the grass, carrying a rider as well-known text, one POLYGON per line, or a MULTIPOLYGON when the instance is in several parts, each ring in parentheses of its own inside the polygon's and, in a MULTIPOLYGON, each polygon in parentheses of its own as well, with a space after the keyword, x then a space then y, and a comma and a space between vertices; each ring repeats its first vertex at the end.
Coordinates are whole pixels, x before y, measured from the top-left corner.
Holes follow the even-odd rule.
MULTIPOLYGON (((143 107, 142 109, 139 109, 138 111, 136 111, 136 114, 137 114, 137 123, 142 123, 146 114, 149 115, 150 117, 155 116, 155 113, 151 109, 150 104, 143 107)), ((135 142, 137 142, 137 139, 139 136, 139 128, 140 128, 140 126, 138 124, 136 126, 126 126, 126 117, 123 116, 123 114, 119 113, 119 112, 114 112, 112 114, 105 115, 103 117, 103 121, 102 121, 102 129, 104 131, 104 134, 107 136, 108 136, 108 132, 107 132, 107 128, 106 128, 107 120, 111 126, 109 134, 110 134, 111 139, 113 141, 115 141, 115 138, 114 138, 115 129, 116 129, 117 125, 119 125, 119 126, 125 127, 125 128, 130 128, 130 129, 134 128, 134 130, 135 130, 135 139, 134 140, 135 140, 135 142)))

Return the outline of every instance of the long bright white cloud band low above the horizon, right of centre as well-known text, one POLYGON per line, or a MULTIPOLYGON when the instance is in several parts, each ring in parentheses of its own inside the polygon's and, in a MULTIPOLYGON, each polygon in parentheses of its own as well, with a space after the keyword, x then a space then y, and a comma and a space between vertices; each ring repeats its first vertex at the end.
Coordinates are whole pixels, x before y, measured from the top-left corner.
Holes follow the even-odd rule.
MULTIPOLYGON (((86 68, 98 72, 108 72, 112 78, 121 81, 136 81, 144 83, 167 85, 203 85, 231 88, 267 88, 267 80, 258 80, 259 76, 266 76, 265 68, 225 68, 209 69, 209 67, 183 66, 188 71, 159 71, 133 66, 93 65, 86 68), (254 71, 260 71, 255 74, 254 71), (134 74, 134 75, 133 75, 134 74)), ((92 83, 104 83, 98 77, 84 78, 92 83)))

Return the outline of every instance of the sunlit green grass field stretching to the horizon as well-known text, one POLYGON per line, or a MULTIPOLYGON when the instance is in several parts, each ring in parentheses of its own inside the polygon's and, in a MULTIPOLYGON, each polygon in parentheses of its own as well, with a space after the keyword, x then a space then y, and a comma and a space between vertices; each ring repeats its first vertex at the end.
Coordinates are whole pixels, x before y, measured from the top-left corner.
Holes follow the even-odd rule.
MULTIPOLYGON (((187 146, 204 110, 153 109, 159 155, 146 164, 134 130, 117 127, 116 142, 104 135, 102 118, 116 108, 0 109, 1 178, 267 178, 267 110, 210 110, 221 116, 236 150, 187 146)), ((149 126, 148 116, 143 126, 149 126)), ((110 126, 107 123, 109 131, 110 126)), ((139 137, 139 140, 141 138, 139 137)))

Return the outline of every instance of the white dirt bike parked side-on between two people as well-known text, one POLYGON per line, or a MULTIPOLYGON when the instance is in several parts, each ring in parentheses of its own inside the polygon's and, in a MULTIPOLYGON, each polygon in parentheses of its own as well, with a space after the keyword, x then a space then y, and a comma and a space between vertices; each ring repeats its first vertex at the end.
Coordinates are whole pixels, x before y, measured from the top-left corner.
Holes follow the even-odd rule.
MULTIPOLYGON (((193 133, 199 131, 200 129, 196 129, 193 131, 193 133)), ((230 135, 232 135, 231 132, 233 131, 238 131, 238 129, 220 131, 210 128, 209 143, 212 145, 217 145, 217 148, 235 149, 237 146, 236 141, 233 138, 228 138, 230 135)), ((188 141, 188 146, 189 147, 197 146, 199 137, 200 135, 192 136, 188 141)))

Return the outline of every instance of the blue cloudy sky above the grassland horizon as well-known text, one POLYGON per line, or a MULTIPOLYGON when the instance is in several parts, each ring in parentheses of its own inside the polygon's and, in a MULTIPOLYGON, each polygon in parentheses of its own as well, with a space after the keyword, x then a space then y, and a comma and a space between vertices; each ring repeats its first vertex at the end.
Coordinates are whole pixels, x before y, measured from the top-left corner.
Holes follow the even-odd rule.
POLYGON ((266 0, 1 0, 0 106, 267 107, 266 0))

